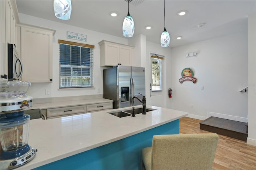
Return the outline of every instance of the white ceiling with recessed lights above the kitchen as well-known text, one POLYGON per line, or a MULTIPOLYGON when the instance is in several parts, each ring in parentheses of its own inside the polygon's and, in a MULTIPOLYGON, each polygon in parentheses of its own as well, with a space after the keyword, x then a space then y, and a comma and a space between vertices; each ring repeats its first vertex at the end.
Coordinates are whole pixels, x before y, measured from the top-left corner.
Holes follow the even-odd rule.
MULTIPOLYGON (((53 0, 16 0, 18 12, 118 36, 128 13, 125 0, 72 0, 70 20, 54 16, 53 0), (111 12, 118 14, 110 16, 111 12)), ((133 0, 129 4, 134 20, 134 36, 143 34, 146 40, 160 44, 164 30, 163 0, 133 0), (146 26, 152 26, 146 30, 146 26)), ((170 34, 170 47, 208 40, 247 30, 247 17, 256 13, 256 0, 166 0, 166 30, 170 34), (177 12, 186 10, 185 16, 177 12), (206 23, 203 27, 198 24, 206 23), (181 40, 176 37, 182 36, 181 40)), ((80 33, 86 34, 86 33, 80 33)))

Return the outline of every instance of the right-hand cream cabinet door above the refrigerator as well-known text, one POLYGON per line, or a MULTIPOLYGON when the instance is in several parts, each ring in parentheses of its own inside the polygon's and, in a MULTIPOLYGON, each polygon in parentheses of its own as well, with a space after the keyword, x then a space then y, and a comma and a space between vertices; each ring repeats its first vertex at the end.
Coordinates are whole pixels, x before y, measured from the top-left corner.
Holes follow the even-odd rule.
POLYGON ((133 65, 133 48, 120 45, 119 63, 126 66, 133 65))

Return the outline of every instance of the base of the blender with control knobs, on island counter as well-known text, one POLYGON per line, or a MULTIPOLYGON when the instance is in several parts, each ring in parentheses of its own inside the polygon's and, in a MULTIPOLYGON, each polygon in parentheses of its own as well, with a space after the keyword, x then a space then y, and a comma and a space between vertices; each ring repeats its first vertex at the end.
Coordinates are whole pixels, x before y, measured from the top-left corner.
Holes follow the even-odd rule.
POLYGON ((30 162, 36 156, 37 149, 30 147, 30 150, 19 157, 8 159, 8 160, 1 160, 0 162, 0 169, 1 170, 10 170, 22 166, 28 162, 30 162))

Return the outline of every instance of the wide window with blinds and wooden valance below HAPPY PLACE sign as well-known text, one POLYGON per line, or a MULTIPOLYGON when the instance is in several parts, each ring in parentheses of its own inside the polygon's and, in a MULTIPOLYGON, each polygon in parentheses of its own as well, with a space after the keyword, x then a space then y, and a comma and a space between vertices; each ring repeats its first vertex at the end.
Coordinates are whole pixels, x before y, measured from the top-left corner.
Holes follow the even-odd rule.
POLYGON ((93 87, 94 45, 59 40, 60 88, 93 87))

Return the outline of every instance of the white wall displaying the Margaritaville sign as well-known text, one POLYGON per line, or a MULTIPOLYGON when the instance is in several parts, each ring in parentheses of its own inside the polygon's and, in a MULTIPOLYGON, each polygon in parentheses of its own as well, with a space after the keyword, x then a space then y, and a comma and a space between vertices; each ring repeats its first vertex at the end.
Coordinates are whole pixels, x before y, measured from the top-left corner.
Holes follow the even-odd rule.
POLYGON ((186 111, 189 117, 201 120, 211 112, 219 114, 217 117, 247 122, 248 93, 238 92, 248 84, 247 37, 245 30, 172 48, 172 109, 186 111), (197 57, 185 57, 194 51, 197 57), (186 67, 194 71, 196 83, 179 82, 186 67))

